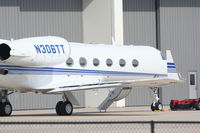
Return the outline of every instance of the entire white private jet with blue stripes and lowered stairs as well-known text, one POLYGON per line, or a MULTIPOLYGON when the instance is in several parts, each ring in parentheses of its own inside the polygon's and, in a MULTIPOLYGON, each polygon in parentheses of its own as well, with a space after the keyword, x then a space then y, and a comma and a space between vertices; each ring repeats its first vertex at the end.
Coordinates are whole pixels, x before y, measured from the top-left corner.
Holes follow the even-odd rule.
POLYGON ((151 109, 162 110, 158 87, 181 81, 171 52, 166 55, 149 46, 91 45, 54 36, 0 40, 0 115, 12 113, 9 92, 61 93, 56 113, 71 115, 78 105, 72 92, 97 88, 114 88, 99 110, 132 87, 149 87, 151 109))

